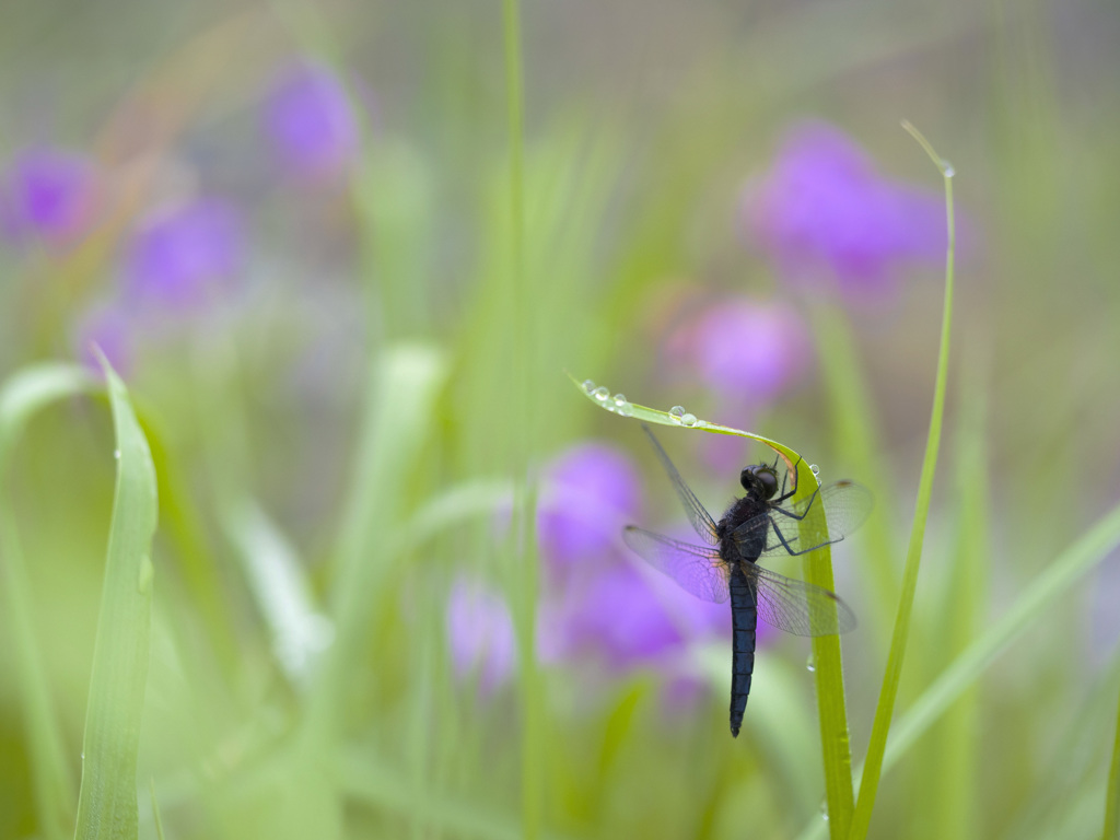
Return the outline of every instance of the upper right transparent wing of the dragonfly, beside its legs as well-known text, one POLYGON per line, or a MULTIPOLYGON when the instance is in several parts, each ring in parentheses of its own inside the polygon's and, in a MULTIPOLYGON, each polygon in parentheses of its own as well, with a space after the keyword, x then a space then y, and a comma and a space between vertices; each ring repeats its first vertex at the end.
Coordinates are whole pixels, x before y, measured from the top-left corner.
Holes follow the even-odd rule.
POLYGON ((804 554, 821 545, 840 542, 859 528, 871 512, 871 492, 850 480, 836 482, 818 489, 809 498, 794 505, 774 505, 766 513, 747 520, 731 532, 731 539, 745 549, 758 545, 758 534, 766 533, 765 548, 759 557, 804 554), (828 530, 819 516, 809 514, 820 505, 828 530), (808 516, 808 520, 806 520, 808 516), (802 528, 802 524, 808 528, 802 528))

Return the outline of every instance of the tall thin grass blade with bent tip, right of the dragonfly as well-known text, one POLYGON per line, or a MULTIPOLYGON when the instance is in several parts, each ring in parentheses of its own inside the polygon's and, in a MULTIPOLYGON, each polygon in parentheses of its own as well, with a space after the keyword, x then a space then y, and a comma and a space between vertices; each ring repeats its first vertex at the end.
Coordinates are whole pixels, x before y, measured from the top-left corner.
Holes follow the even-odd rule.
POLYGON ((953 172, 952 169, 930 147, 925 139, 909 123, 903 123, 907 131, 922 144, 931 159, 936 164, 945 181, 945 215, 949 226, 949 250, 945 258, 945 299, 941 318, 941 351, 937 356, 937 375, 933 391, 933 409, 930 417, 930 435, 926 439, 925 457, 922 460, 922 477, 918 480, 917 504, 914 511, 914 526, 911 530, 909 547, 906 550, 906 567, 903 570, 903 591, 898 601, 898 615, 895 619, 895 631, 890 640, 890 652, 887 655, 886 673, 883 676, 883 689, 879 702, 875 709, 875 721, 871 725, 871 740, 867 748, 864 777, 859 786, 859 799, 852 816, 851 830, 848 837, 862 840, 871 822, 875 809, 875 797, 878 793, 879 776, 883 772, 883 756, 887 748, 887 735, 890 731, 890 720, 895 712, 895 699, 898 696, 898 683, 902 679, 903 662, 906 659, 906 643, 909 637, 911 612, 914 606, 914 592, 917 589, 917 572, 922 561, 922 543, 925 540, 925 522, 930 512, 930 498, 933 494, 933 477, 937 464, 937 451, 941 447, 941 426, 945 408, 945 388, 949 381, 949 339, 952 332, 953 314, 953 172))

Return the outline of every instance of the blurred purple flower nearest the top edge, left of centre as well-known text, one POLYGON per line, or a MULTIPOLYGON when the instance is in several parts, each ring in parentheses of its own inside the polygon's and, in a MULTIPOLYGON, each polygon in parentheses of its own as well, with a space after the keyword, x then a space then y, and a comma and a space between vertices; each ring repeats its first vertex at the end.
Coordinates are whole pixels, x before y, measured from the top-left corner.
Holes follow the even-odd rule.
POLYGON ((358 152, 358 125, 346 91, 318 64, 299 60, 277 74, 263 128, 280 164, 299 178, 336 176, 358 152))

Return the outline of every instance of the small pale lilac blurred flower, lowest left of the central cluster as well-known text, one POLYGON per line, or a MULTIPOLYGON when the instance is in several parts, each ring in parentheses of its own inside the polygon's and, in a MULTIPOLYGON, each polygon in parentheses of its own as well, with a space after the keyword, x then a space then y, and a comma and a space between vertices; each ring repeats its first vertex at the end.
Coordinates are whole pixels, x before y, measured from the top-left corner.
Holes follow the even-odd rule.
POLYGON ((478 690, 491 694, 514 672, 517 643, 510 608, 501 594, 460 576, 447 599, 447 642, 459 681, 477 674, 478 690))

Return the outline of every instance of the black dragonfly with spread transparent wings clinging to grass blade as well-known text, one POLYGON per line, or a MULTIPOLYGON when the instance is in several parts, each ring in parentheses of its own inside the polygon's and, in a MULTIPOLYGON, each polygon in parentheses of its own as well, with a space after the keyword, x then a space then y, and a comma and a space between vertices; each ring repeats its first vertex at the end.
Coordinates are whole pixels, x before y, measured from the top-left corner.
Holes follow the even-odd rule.
POLYGON ((764 569, 758 560, 806 554, 839 542, 867 519, 871 494, 862 485, 844 479, 818 487, 808 497, 792 502, 796 493, 796 466, 793 487, 786 492, 788 473, 780 486, 775 459, 774 464, 754 464, 743 469, 739 484, 746 495, 736 498, 717 522, 681 478, 650 427, 643 423, 642 428, 669 474, 692 529, 706 544, 692 545, 637 525, 627 525, 623 540, 696 597, 717 604, 730 599, 730 724, 731 735, 738 737, 755 669, 759 618, 799 636, 827 636, 856 626, 856 616, 834 592, 764 569), (820 516, 806 520, 816 505, 823 510, 827 530, 820 516))

